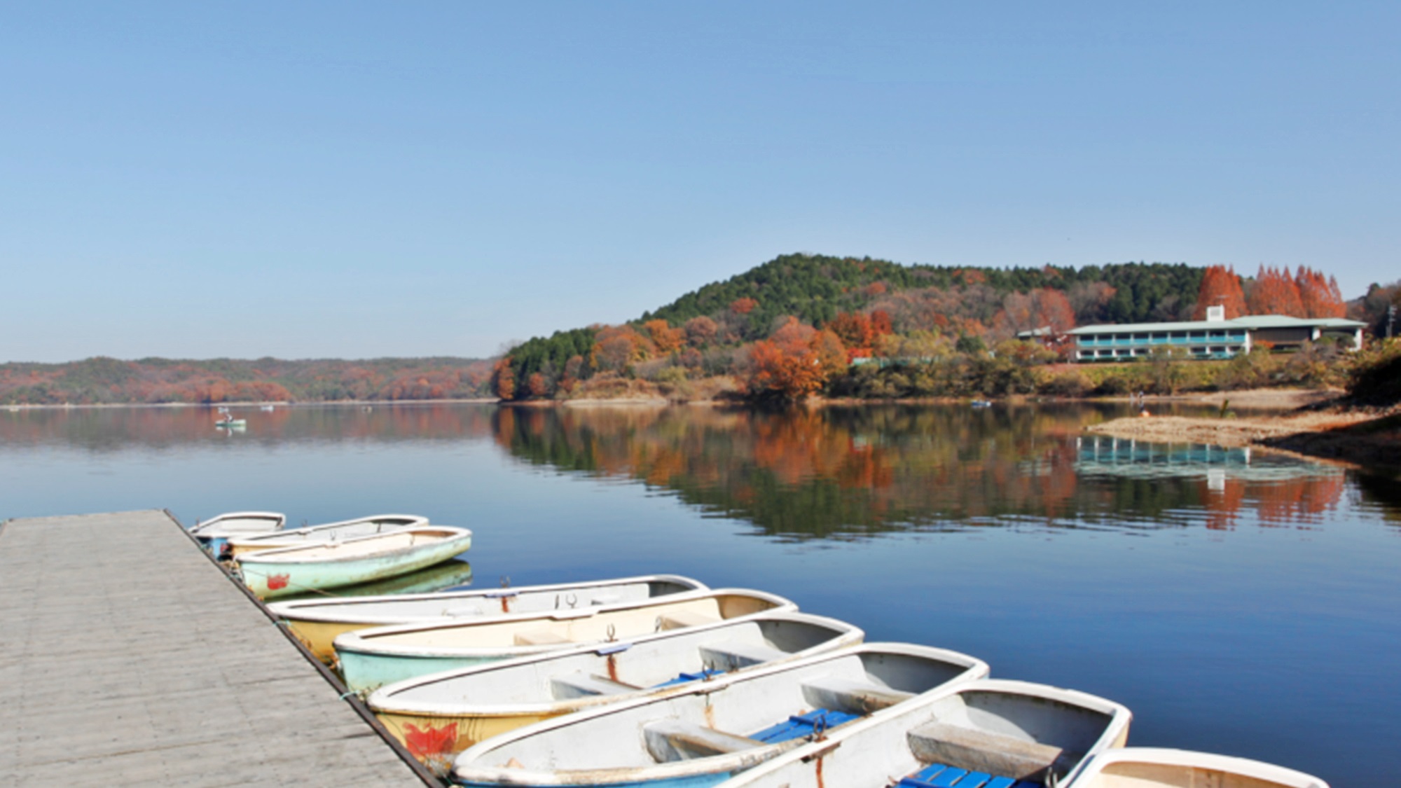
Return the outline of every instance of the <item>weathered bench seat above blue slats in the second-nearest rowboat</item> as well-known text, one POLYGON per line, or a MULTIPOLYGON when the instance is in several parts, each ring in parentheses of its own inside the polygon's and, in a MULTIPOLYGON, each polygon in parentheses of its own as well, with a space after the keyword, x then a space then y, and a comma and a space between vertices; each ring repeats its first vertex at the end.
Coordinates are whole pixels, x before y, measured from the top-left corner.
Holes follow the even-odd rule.
POLYGON ((1052 745, 937 721, 911 729, 906 739, 911 753, 925 763, 1033 782, 1045 782, 1048 773, 1063 775, 1083 757, 1052 745))

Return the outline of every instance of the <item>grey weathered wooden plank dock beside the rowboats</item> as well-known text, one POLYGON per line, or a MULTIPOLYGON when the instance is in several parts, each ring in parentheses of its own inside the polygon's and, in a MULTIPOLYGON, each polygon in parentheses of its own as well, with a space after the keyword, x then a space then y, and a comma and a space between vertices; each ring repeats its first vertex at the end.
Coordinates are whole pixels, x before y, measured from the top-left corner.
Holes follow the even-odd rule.
POLYGON ((4 785, 437 785, 160 510, 0 524, 4 785))

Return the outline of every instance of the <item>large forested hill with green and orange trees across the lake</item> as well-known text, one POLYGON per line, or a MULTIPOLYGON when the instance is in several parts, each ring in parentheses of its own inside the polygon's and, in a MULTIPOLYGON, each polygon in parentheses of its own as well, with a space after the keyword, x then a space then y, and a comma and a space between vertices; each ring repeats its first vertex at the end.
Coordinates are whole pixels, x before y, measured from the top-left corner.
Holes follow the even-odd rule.
POLYGON ((637 380, 678 388, 682 380, 740 380, 752 377, 755 346, 762 355, 780 339, 811 349, 814 331, 835 370, 845 369, 839 359, 925 358, 940 342, 984 348, 1042 327, 1187 320, 1203 273, 1161 262, 960 268, 790 254, 629 324, 530 339, 497 363, 492 386, 506 400, 524 400, 649 391, 637 380), (909 346, 897 346, 904 339, 909 346), (597 386, 581 386, 590 380, 597 386))

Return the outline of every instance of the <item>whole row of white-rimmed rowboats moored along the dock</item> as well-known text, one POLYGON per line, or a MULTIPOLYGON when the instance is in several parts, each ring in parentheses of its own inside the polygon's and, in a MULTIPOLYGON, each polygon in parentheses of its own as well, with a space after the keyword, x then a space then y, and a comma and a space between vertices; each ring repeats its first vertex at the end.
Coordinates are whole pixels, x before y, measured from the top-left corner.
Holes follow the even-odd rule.
MULTIPOLYGON (((276 517, 262 534, 233 533, 228 516, 195 536, 268 599, 353 573, 307 565, 385 564, 415 547, 392 536, 461 531, 391 516, 282 530, 276 517)), ((1131 714, 1114 701, 989 679, 947 649, 867 644, 783 597, 677 575, 269 610, 461 785, 1327 788, 1259 761, 1126 747, 1131 714)))

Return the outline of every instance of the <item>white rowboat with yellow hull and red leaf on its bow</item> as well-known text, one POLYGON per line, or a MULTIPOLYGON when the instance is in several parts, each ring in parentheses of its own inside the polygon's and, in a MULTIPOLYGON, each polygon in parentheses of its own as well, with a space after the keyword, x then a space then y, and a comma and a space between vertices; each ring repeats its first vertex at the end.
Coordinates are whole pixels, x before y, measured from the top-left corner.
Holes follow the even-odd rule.
POLYGON ((476 742, 531 722, 684 690, 692 681, 856 645, 863 637, 835 618, 761 613, 432 673, 380 687, 366 704, 415 757, 441 771, 476 742))

